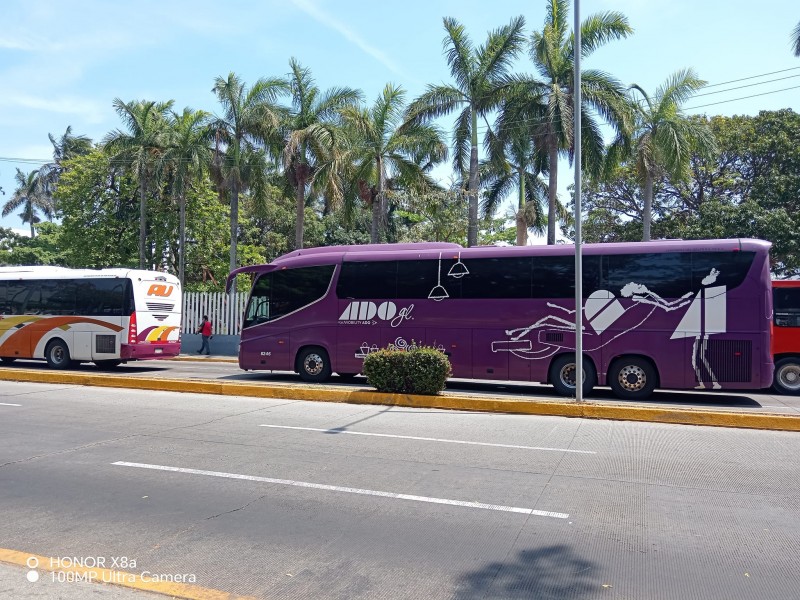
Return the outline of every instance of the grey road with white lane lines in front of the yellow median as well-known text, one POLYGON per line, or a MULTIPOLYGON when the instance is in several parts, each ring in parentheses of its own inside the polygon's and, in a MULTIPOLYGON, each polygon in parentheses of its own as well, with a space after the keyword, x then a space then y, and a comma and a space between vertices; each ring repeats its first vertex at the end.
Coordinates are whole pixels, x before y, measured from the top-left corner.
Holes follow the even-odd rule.
POLYGON ((0 547, 259 598, 789 600, 798 456, 791 432, 3 382, 0 547))

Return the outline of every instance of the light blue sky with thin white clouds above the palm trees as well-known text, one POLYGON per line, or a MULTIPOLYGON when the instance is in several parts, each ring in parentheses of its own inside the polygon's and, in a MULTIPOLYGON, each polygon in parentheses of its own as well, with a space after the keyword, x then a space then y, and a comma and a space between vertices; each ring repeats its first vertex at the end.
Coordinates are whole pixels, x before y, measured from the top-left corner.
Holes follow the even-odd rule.
MULTIPOLYGON (((16 168, 29 171, 38 166, 31 159, 52 156, 48 133, 60 137, 71 125, 74 133, 99 141, 120 127, 114 98, 172 99, 177 110, 215 112, 215 77, 233 71, 251 83, 284 75, 294 56, 323 89, 359 88, 371 103, 392 82, 411 99, 427 83, 450 82, 442 55, 443 17, 461 21, 478 45, 490 29, 517 15, 525 17, 528 33, 541 28, 545 2, 4 0, 2 10, 0 187, 5 196, 0 202, 5 203, 14 191, 16 168)), ((624 13, 635 33, 585 59, 584 68, 605 70, 652 91, 675 70, 692 67, 714 87, 689 101, 687 112, 800 110, 800 58, 789 41, 800 21, 796 0, 581 2, 583 17, 606 10, 624 13), (777 71, 784 72, 766 75, 777 71), (743 78, 748 79, 715 85, 743 78), (724 91, 738 86, 750 87, 724 91), (763 95, 736 100, 755 94, 763 95), (720 104, 703 106, 711 103, 720 104)), ((519 70, 532 72, 524 56, 519 70)), ((562 182, 571 177, 562 170, 562 182)), ((0 225, 26 229, 15 214, 0 219, 0 225)))

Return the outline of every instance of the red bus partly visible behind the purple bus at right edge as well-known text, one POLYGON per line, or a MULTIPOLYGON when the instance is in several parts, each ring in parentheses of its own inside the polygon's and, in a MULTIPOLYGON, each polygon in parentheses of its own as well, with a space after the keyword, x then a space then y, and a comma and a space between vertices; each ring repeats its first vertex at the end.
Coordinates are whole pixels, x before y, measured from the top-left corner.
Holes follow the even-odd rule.
POLYGON ((800 394, 800 281, 773 281, 772 389, 800 394))

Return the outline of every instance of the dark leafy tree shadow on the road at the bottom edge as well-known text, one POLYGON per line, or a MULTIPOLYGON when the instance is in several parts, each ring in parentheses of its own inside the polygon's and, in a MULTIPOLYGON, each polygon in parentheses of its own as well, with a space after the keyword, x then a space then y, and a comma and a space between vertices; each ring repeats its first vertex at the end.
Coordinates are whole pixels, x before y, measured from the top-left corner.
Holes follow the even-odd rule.
POLYGON ((595 565, 569 546, 545 546, 462 575, 453 598, 580 600, 596 595, 601 584, 595 576, 595 565))

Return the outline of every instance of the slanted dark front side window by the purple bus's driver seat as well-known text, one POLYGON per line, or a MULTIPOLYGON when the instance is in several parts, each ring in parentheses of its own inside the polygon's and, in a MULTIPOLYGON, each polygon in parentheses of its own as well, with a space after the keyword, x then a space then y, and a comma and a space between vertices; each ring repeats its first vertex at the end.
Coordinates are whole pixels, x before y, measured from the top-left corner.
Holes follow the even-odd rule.
POLYGON ((258 278, 244 327, 272 321, 319 300, 328 290, 334 265, 273 271, 258 278))

